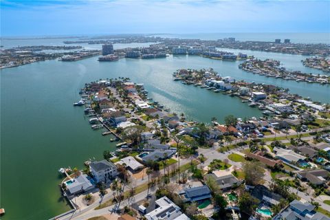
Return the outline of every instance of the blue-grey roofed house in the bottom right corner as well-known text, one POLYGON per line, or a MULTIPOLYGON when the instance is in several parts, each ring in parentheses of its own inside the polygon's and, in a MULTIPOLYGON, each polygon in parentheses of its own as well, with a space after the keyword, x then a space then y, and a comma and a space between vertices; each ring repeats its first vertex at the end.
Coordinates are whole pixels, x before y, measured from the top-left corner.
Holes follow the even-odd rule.
POLYGON ((280 212, 274 219, 329 220, 329 217, 326 217, 320 212, 316 212, 315 206, 308 201, 298 201, 295 199, 289 204, 289 207, 280 212))

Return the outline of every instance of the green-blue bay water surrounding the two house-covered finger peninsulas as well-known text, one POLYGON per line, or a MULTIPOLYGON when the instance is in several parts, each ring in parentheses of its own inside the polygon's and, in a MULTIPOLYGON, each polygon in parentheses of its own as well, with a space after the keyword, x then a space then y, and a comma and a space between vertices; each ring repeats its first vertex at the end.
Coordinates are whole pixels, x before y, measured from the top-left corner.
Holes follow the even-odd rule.
MULTIPOLYGON (((278 56, 285 67, 314 71, 301 65, 300 56, 269 56, 278 56)), ((204 122, 210 122, 213 116, 222 121, 228 114, 240 118, 260 116, 261 111, 248 107, 239 98, 173 81, 176 69, 213 67, 223 76, 270 83, 329 102, 327 85, 265 78, 242 72, 238 64, 200 56, 111 63, 99 63, 93 57, 73 63, 45 61, 2 69, 1 207, 7 212, 3 219, 47 219, 68 210, 57 186, 61 181, 58 168, 82 167, 86 159, 102 158, 104 150, 115 148, 109 137, 91 130, 83 108, 72 106, 79 100, 79 88, 93 80, 130 77, 136 83, 144 83, 154 100, 204 122)))

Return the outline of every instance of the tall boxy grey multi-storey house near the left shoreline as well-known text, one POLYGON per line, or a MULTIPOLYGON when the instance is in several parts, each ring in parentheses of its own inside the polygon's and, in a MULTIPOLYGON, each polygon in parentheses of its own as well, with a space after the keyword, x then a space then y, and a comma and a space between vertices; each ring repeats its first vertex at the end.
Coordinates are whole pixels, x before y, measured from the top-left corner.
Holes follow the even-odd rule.
POLYGON ((107 182, 118 175, 117 166, 108 162, 106 159, 91 162, 89 168, 91 169, 91 173, 93 174, 94 179, 96 179, 96 182, 107 182))

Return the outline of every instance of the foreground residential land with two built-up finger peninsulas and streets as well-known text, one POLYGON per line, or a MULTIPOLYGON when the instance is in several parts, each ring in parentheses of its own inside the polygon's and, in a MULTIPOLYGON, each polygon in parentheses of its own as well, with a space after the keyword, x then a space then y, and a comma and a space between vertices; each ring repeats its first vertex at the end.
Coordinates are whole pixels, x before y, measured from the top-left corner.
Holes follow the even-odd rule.
POLYGON ((330 195, 328 104, 213 69, 173 77, 269 112, 205 124, 164 109, 129 78, 87 83, 74 106, 85 107, 91 129, 103 129, 118 150, 87 160, 83 170, 59 170, 73 209, 57 219, 109 210, 121 219, 329 219, 318 197, 330 195))

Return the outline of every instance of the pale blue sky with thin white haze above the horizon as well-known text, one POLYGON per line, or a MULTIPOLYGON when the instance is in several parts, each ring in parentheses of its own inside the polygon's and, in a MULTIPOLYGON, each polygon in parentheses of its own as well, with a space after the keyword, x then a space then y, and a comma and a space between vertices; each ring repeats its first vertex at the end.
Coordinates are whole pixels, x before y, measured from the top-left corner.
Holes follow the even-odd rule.
POLYGON ((330 1, 0 0, 1 36, 330 32, 330 1))

